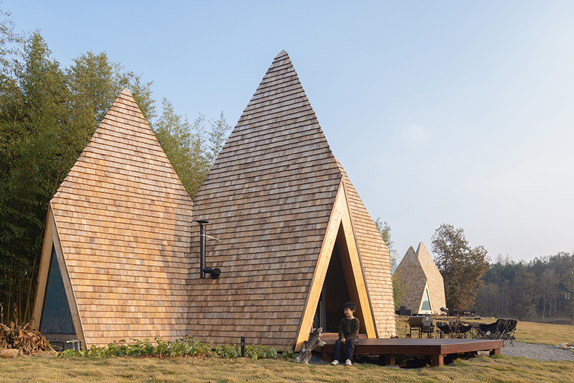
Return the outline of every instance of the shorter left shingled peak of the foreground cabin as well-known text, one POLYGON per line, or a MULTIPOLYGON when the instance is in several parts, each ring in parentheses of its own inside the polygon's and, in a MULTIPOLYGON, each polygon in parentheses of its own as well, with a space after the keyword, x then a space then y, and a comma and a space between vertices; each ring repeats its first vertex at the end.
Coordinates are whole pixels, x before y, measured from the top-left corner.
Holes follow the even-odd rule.
POLYGON ((189 195, 122 91, 51 200, 34 325, 54 248, 84 347, 185 337, 191 215, 189 195))

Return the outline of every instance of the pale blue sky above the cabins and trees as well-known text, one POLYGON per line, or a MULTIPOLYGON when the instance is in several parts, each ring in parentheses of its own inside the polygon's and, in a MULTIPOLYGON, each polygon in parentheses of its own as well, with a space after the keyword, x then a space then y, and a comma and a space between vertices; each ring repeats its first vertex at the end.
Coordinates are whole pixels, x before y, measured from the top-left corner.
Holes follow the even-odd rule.
POLYGON ((234 126, 285 49, 402 257, 443 222, 490 255, 574 250, 574 1, 4 0, 53 58, 106 51, 234 126))

